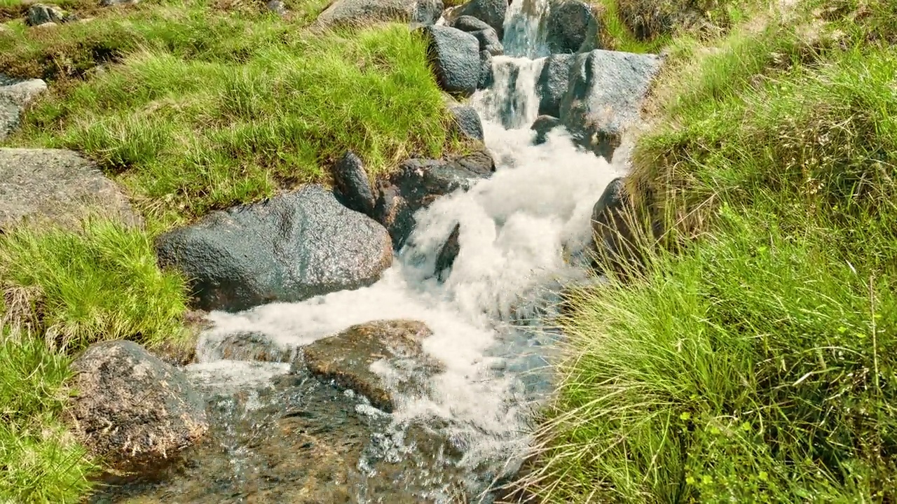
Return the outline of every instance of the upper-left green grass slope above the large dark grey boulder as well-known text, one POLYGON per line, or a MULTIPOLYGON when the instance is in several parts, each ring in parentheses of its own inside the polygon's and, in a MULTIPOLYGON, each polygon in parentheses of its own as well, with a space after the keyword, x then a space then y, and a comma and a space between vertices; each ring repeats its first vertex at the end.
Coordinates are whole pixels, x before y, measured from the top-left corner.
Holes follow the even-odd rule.
POLYGON ((312 34, 208 9, 122 11, 25 43, 0 34, 0 71, 62 81, 7 143, 85 152, 161 227, 327 183, 347 149, 374 177, 455 146, 425 43, 405 26, 312 34), (91 73, 104 60, 120 63, 91 73))

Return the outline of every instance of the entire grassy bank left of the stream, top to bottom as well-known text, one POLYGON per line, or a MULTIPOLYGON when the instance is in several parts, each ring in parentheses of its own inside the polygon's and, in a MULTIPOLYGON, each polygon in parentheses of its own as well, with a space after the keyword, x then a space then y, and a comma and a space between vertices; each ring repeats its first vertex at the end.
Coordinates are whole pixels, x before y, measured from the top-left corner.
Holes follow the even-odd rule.
POLYGON ((374 177, 461 147, 405 25, 312 31, 320 1, 286 1, 285 18, 239 0, 52 3, 92 19, 28 28, 27 5, 0 0, 0 73, 50 88, 4 146, 83 152, 147 228, 100 219, 0 234, 0 501, 22 503, 90 491, 96 467, 65 431, 70 359, 101 340, 152 348, 186 335, 185 279, 159 270, 154 235, 327 183, 348 149, 374 177))

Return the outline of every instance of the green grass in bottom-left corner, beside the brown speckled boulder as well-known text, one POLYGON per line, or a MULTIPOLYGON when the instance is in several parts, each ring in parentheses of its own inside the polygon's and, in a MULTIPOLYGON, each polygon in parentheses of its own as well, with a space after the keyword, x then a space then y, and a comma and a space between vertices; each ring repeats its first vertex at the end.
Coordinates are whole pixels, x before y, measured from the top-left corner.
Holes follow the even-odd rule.
POLYGON ((0 329, 0 501, 79 502, 95 466, 65 431, 68 359, 0 329))

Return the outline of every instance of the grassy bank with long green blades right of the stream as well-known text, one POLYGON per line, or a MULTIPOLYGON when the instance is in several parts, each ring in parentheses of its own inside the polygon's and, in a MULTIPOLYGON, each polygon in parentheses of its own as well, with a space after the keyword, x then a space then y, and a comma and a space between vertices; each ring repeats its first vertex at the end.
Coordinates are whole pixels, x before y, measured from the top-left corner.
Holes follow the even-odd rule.
POLYGON ((673 44, 631 187, 684 247, 575 293, 544 500, 897 499, 897 8, 764 13, 673 44))

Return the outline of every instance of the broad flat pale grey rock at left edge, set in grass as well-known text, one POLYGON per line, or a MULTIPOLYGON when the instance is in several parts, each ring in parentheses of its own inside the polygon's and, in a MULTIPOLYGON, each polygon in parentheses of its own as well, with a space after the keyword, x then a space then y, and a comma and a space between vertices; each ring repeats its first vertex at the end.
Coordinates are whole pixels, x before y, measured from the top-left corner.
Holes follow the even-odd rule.
POLYGON ((0 230, 26 218, 76 229, 91 213, 141 223, 118 186, 77 152, 0 149, 0 230))

